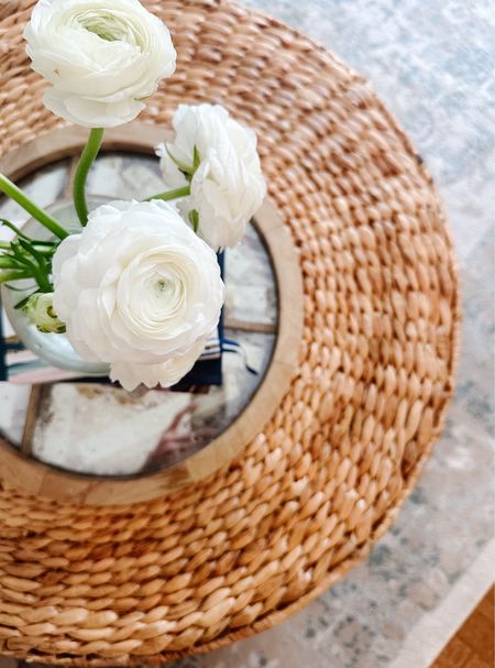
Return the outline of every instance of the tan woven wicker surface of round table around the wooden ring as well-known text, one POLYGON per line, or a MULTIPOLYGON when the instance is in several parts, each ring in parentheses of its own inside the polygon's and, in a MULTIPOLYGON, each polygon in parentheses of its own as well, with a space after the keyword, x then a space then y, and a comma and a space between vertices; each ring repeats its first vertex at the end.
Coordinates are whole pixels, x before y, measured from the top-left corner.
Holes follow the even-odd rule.
MULTIPOLYGON (((242 457, 201 484, 127 507, 0 489, 0 654, 37 661, 166 660, 286 618, 389 526, 452 394, 458 280, 441 204, 365 80, 239 4, 146 4, 178 68, 141 119, 218 101, 258 134, 300 251, 300 366, 242 457)), ((2 153, 62 123, 24 55, 32 6, 1 10, 2 153)))

